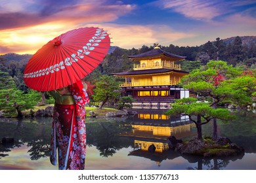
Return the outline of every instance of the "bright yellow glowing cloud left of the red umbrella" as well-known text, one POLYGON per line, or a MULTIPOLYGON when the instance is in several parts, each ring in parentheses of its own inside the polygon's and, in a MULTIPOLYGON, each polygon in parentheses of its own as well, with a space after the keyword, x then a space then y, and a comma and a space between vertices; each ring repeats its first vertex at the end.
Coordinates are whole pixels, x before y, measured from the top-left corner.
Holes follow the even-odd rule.
POLYGON ((73 25, 62 22, 9 29, 0 31, 0 54, 15 52, 17 54, 34 54, 41 46, 54 37, 64 33, 73 25))

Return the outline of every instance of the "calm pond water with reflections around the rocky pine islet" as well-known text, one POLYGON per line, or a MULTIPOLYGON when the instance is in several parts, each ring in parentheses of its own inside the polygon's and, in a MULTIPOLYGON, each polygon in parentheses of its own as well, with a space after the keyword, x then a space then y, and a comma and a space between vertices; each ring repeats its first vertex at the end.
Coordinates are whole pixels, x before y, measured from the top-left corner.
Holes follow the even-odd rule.
MULTIPOLYGON (((87 158, 85 169, 256 170, 256 114, 240 111, 234 122, 218 121, 218 133, 244 147, 245 154, 232 158, 204 159, 165 150, 166 138, 175 135, 186 141, 196 135, 187 118, 169 118, 162 110, 138 110, 127 119, 87 119, 87 158), (156 152, 142 150, 150 144, 156 152)), ((47 169, 57 166, 49 161, 52 118, 0 118, 0 139, 14 137, 14 143, 0 144, 0 169, 47 169)), ((211 135, 211 123, 203 125, 203 135, 211 135)))

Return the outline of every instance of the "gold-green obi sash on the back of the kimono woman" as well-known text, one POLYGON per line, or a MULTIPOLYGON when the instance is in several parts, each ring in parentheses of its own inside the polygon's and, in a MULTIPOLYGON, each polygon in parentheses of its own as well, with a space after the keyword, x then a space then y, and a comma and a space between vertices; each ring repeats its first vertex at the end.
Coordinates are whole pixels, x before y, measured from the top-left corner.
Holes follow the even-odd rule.
POLYGON ((72 93, 68 89, 60 89, 60 90, 55 90, 55 91, 50 91, 50 95, 53 96, 55 99, 55 103, 59 105, 74 105, 74 97, 72 93), (63 92, 66 90, 65 92, 63 92), (62 95, 62 93, 65 93, 62 95))

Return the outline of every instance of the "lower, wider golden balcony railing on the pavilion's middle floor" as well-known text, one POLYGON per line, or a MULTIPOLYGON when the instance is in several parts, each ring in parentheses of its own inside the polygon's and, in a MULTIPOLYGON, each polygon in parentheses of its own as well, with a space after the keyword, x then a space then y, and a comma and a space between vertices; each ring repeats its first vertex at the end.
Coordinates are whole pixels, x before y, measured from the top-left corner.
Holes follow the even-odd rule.
POLYGON ((177 85, 173 80, 165 82, 123 82, 120 87, 134 87, 134 86, 165 86, 165 85, 177 85))

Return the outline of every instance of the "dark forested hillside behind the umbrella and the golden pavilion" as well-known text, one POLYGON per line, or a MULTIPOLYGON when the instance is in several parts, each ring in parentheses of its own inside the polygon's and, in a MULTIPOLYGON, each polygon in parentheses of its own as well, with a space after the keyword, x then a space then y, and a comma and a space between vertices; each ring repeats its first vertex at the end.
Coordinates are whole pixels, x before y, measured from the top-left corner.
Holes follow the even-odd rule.
MULTIPOLYGON (((154 45, 143 45, 139 49, 123 49, 112 46, 111 52, 104 58, 104 61, 85 79, 96 84, 100 75, 111 75, 122 71, 133 69, 134 61, 127 58, 135 54, 141 54, 152 50, 154 45)), ((182 70, 192 71, 206 65, 209 60, 223 60, 228 64, 242 67, 243 69, 256 69, 256 37, 232 37, 229 39, 219 39, 208 41, 201 46, 161 46, 161 49, 186 56, 181 63, 182 70)), ((24 93, 28 92, 27 86, 23 81, 23 71, 26 63, 32 55, 5 54, 0 56, 0 73, 9 75, 14 80, 17 88, 24 93)))

